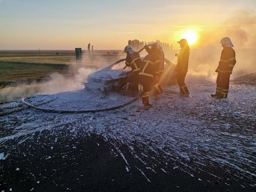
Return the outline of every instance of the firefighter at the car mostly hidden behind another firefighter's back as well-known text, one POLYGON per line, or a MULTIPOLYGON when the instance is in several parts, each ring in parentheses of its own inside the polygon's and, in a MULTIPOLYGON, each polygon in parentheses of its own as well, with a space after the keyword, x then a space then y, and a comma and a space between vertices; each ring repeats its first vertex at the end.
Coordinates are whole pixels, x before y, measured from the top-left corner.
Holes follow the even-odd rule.
MULTIPOLYGON (((156 71, 157 76, 156 76, 156 79, 155 79, 155 82, 153 85, 153 93, 154 93, 154 95, 157 95, 157 94, 160 94, 163 92, 163 89, 159 83, 160 83, 161 75, 164 72, 164 51, 162 51, 162 48, 160 47, 160 45, 158 43, 154 42, 153 44, 158 45, 158 55, 160 57, 160 68, 158 71, 156 71), (161 54, 161 52, 162 52, 162 54, 161 54)), ((147 45, 145 45, 144 47, 145 47, 146 51, 148 53, 150 53, 151 49, 147 45)))

